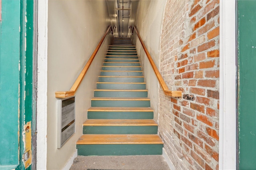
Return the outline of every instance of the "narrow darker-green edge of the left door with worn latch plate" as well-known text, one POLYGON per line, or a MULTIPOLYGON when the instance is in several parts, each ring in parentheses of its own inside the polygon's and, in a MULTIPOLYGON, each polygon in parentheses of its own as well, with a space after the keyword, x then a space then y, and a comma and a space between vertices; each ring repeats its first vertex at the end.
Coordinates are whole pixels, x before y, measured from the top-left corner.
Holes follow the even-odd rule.
MULTIPOLYGON (((33 13, 34 1, 20 1, 20 164, 16 169, 32 169, 32 136, 35 134, 33 119, 33 13), (27 130, 31 136, 27 134, 27 130), (24 142, 25 141, 25 142, 24 142), (29 142, 31 144, 29 144, 29 142), (25 157, 31 157, 26 160, 25 157)), ((36 56, 35 56, 36 57, 36 56)), ((35 166, 34 166, 35 167, 35 166)))

